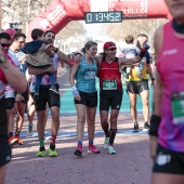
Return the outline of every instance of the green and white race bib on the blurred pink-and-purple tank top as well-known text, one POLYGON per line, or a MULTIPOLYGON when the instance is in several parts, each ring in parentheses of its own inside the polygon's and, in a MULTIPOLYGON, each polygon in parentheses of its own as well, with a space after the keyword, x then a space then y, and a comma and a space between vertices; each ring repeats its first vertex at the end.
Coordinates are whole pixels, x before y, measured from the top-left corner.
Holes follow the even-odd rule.
POLYGON ((184 123, 184 92, 172 94, 171 106, 174 124, 184 123))

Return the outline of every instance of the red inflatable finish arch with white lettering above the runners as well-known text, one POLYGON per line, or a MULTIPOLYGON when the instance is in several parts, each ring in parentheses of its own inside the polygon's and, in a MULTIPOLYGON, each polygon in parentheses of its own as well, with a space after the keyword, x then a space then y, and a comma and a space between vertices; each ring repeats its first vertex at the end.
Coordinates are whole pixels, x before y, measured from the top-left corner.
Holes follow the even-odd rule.
POLYGON ((70 21, 84 19, 84 12, 94 11, 94 8, 122 11, 124 19, 169 16, 163 0, 53 0, 44 12, 29 24, 28 36, 34 28, 52 29, 57 34, 70 21), (107 8, 102 8, 102 2, 107 3, 107 8))

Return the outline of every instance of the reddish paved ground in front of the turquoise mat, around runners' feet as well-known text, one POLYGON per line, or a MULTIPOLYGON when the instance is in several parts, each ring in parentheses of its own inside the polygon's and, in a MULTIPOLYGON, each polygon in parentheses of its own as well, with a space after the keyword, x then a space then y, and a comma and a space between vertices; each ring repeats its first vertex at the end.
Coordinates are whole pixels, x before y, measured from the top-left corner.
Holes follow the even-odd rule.
MULTIPOLYGON (((148 134, 132 132, 129 114, 120 114, 118 134, 115 140, 116 155, 108 155, 103 148, 100 117, 96 115, 94 143, 101 154, 89 154, 87 132, 83 141, 83 156, 73 155, 76 149, 76 116, 61 116, 61 128, 56 141, 58 157, 37 158, 38 137, 23 137, 24 145, 14 146, 12 161, 8 165, 6 184, 147 184, 150 181, 152 160, 148 153, 148 134)), ((143 117, 139 114, 140 128, 143 117)), ((23 127, 26 135, 27 120, 23 127)), ((51 118, 47 124, 50 135, 51 118)), ((36 124, 34 126, 36 134, 36 124)), ((87 131, 87 127, 86 127, 87 131)), ((48 150, 50 141, 45 142, 48 150)))

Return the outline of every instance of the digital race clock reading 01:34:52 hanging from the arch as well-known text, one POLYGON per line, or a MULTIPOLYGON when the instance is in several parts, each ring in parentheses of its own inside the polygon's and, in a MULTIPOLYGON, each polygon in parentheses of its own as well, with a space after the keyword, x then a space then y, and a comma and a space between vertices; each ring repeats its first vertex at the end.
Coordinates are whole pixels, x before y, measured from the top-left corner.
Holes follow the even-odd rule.
POLYGON ((120 23, 122 22, 122 12, 86 12, 86 24, 90 23, 120 23))

